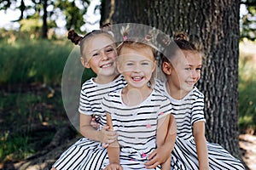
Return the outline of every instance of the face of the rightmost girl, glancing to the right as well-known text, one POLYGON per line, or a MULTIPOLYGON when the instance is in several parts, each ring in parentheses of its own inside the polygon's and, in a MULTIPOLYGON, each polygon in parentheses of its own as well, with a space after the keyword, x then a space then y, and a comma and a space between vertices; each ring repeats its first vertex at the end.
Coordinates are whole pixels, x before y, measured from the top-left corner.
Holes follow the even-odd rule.
POLYGON ((168 77, 169 88, 184 94, 190 92, 201 77, 201 62, 201 54, 183 50, 183 55, 176 56, 172 65, 169 63, 169 71, 165 71, 163 67, 168 77))

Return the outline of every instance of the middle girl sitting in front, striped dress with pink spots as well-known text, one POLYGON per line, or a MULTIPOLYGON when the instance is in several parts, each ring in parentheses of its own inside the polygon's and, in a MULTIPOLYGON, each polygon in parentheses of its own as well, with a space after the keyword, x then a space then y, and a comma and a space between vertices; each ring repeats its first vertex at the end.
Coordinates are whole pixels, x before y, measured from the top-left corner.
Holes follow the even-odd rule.
MULTIPOLYGON (((172 106, 169 99, 150 86, 156 61, 154 48, 148 42, 126 40, 119 45, 118 54, 117 68, 127 86, 102 99, 108 126, 119 133, 118 141, 108 145, 109 159, 104 162, 104 169, 152 169, 144 164, 148 156, 152 156, 156 146, 165 147, 167 138, 172 138, 168 145, 173 146, 176 138, 172 106), (171 126, 166 134, 169 121, 171 126)), ((169 170, 172 150, 168 151, 169 159, 162 163, 162 169, 169 170)))

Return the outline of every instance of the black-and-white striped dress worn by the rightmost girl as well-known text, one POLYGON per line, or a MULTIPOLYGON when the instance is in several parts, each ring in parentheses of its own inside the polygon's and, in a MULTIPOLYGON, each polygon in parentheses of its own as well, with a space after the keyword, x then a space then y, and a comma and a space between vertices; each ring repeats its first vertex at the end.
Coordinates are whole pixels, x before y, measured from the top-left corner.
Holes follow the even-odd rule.
MULTIPOLYGON (((195 122, 205 122, 204 95, 195 87, 183 99, 177 100, 167 93, 166 83, 158 82, 155 88, 170 99, 172 115, 177 122, 177 139, 172 151, 172 169, 199 169, 192 127, 195 122)), ((207 142, 207 149, 210 169, 245 169, 241 161, 231 156, 219 144, 207 142)))

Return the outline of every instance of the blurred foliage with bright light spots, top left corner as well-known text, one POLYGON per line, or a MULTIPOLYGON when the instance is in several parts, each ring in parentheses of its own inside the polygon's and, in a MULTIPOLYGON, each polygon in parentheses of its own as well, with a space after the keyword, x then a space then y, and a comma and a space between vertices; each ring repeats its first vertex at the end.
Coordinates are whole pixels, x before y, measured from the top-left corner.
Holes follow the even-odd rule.
POLYGON ((84 14, 86 14, 90 0, 32 0, 31 3, 28 5, 25 0, 21 0, 20 3, 15 0, 4 0, 0 1, 0 10, 8 8, 20 10, 20 17, 14 22, 22 20, 20 24, 24 25, 25 20, 29 20, 30 26, 36 26, 36 29, 34 29, 35 27, 32 29, 37 32, 41 31, 41 34, 37 33, 37 35, 48 37, 49 29, 56 26, 55 20, 58 20, 60 14, 65 15, 67 30, 71 28, 80 30, 84 25, 84 14), (32 24, 32 21, 35 23, 32 24))

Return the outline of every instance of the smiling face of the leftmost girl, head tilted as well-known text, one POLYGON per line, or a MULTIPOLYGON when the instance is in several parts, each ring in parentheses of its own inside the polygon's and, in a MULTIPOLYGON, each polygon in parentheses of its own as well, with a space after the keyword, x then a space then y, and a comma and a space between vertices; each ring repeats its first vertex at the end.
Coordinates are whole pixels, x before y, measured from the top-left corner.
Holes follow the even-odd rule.
POLYGON ((115 74, 117 54, 113 40, 105 35, 96 35, 87 41, 84 46, 84 56, 81 57, 84 67, 91 68, 97 76, 115 74))

